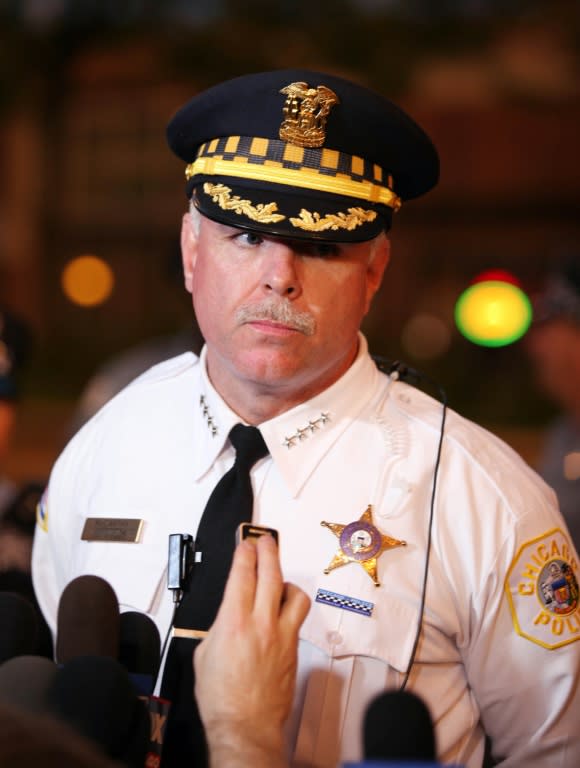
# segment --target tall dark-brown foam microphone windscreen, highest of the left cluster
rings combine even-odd
[[[119,603],[99,576],[79,576],[64,589],[58,605],[56,660],[110,656],[119,652]]]

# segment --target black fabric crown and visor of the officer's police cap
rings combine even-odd
[[[399,107],[381,95],[356,83],[322,72],[283,69],[245,75],[210,88],[187,102],[167,127],[169,146],[186,164],[196,158],[200,145],[224,136],[252,136],[279,140],[284,120],[285,96],[280,91],[294,82],[309,87],[330,88],[338,97],[326,119],[324,149],[362,157],[393,177],[393,191],[401,200],[410,200],[432,189],[439,177],[437,152],[424,131]],[[305,232],[291,228],[288,222],[256,225],[231,210],[223,210],[203,192],[203,184],[223,183],[232,196],[250,199],[253,205],[275,202],[288,218],[297,216],[302,207],[327,213],[345,213],[349,208],[375,210],[377,218],[353,231]],[[293,236],[330,240],[366,240],[381,229],[388,229],[392,209],[352,196],[274,184],[264,180],[246,180],[228,176],[195,176],[186,185],[191,196],[196,189],[196,205],[210,218],[234,226],[288,233]],[[250,196],[248,190],[253,192]]]

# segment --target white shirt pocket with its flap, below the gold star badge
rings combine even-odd
[[[314,602],[302,627],[298,704],[288,728],[293,765],[331,768],[360,760],[369,701],[398,688],[410,664],[418,606],[384,587],[365,592],[365,585],[358,586],[348,594],[374,602],[370,616]]]

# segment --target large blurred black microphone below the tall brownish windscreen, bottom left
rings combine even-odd
[[[58,671],[48,691],[51,714],[110,758],[143,768],[150,717],[127,670],[108,656],[76,656]]]

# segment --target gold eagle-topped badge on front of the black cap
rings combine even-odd
[[[290,83],[280,90],[286,95],[280,138],[299,147],[321,147],[326,138],[326,118],[339,98],[330,88]]]

